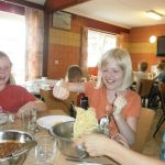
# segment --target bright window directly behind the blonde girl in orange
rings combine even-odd
[[[117,47],[117,35],[88,30],[88,67],[97,66],[100,56]]]

